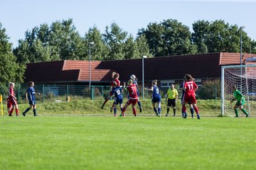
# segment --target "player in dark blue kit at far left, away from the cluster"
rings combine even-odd
[[[23,116],[26,116],[26,113],[29,110],[31,110],[32,107],[33,107],[33,115],[37,116],[37,114],[36,114],[36,98],[35,98],[35,94],[40,95],[40,93],[36,93],[33,86],[34,86],[33,81],[29,81],[28,82],[28,89],[26,91],[26,101],[28,101],[29,107],[26,109],[26,111],[24,111],[22,113]]]

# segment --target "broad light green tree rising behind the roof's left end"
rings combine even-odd
[[[84,57],[83,48],[82,38],[72,19],[68,19],[27,30],[24,40],[18,40],[14,54],[21,63],[79,60]]]

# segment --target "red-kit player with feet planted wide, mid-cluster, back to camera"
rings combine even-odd
[[[136,111],[135,105],[138,102],[139,98],[137,95],[137,86],[136,86],[136,84],[132,83],[131,79],[129,79],[129,81],[128,81],[127,91],[129,92],[129,100],[125,104],[120,116],[125,116],[124,112],[127,110],[127,107],[130,104],[132,104],[132,111],[133,111],[134,116],[137,116],[137,111]]]

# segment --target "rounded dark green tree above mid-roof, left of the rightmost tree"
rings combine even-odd
[[[149,23],[146,29],[139,30],[149,43],[150,52],[158,56],[195,54],[196,47],[191,43],[188,26],[168,19],[161,23]]]

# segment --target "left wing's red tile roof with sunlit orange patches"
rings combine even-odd
[[[91,62],[91,81],[109,82],[110,69],[97,69],[101,62]],[[65,60],[58,62],[28,63],[24,81],[53,83],[66,81],[89,81],[89,62]]]

